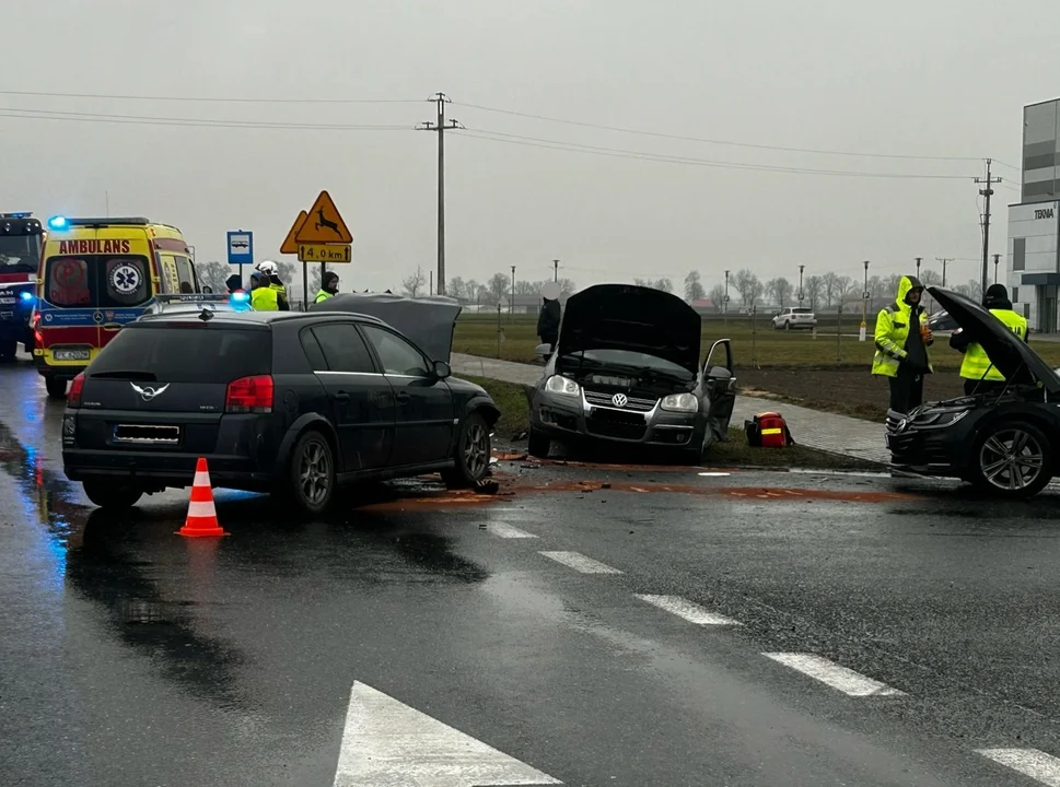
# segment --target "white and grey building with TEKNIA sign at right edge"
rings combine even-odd
[[[1034,331],[1058,332],[1060,98],[1023,108],[1022,201],[1009,205],[1009,294]]]

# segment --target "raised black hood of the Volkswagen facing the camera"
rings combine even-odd
[[[557,354],[631,350],[696,375],[701,330],[699,313],[676,295],[632,284],[597,284],[568,298]]]

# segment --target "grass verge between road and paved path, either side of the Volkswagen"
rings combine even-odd
[[[513,383],[487,379],[485,377],[466,377],[482,386],[493,397],[501,411],[500,421],[493,427],[496,437],[508,443],[513,435],[525,432],[529,427],[529,407],[521,386]],[[867,470],[878,469],[872,462],[848,459],[847,457],[825,454],[804,446],[788,448],[752,448],[747,445],[744,431],[738,427],[729,430],[729,442],[711,446],[703,457],[710,465],[723,467],[765,467],[765,468],[814,468],[828,470]]]

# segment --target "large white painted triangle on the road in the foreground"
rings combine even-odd
[[[335,787],[561,782],[363,683],[354,683]]]

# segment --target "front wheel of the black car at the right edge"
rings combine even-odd
[[[1021,421],[997,424],[976,443],[977,485],[1005,497],[1033,497],[1052,478],[1052,446],[1040,430]]]

